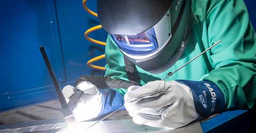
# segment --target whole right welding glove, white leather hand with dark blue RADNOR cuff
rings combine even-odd
[[[129,87],[124,99],[135,123],[163,128],[186,126],[225,107],[221,90],[210,81],[151,81]]]

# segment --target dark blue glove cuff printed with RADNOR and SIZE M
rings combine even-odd
[[[226,106],[225,98],[221,90],[210,81],[177,80],[187,85],[193,94],[196,112],[201,117],[208,117],[221,112]]]

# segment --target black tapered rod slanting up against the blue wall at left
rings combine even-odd
[[[46,53],[45,53],[44,47],[43,47],[43,46],[40,46],[39,49],[40,49],[41,54],[42,54],[42,56],[43,56],[43,58],[44,58],[44,62],[45,62],[45,64],[46,64],[46,66],[47,66],[47,70],[48,70],[48,72],[49,72],[49,74],[50,74],[50,76],[51,76],[53,85],[54,85],[54,87],[55,87],[56,93],[57,93],[57,95],[58,95],[58,98],[59,98],[59,101],[60,101],[60,104],[61,104],[61,108],[62,108],[63,111],[65,111],[65,112],[63,112],[64,115],[73,114],[72,112],[70,112],[69,109],[67,110],[68,104],[67,104],[67,102],[66,102],[65,97],[63,96],[63,94],[62,94],[62,92],[61,92],[60,85],[58,84],[58,81],[57,81],[57,79],[56,79],[56,77],[55,77],[55,74],[54,74],[54,72],[53,72],[53,70],[52,70],[51,63],[50,63],[50,61],[49,61],[49,59],[48,59],[48,57],[47,57],[47,55],[46,55]],[[68,112],[67,112],[67,111],[68,111]],[[65,116],[65,117],[66,117],[66,116]]]

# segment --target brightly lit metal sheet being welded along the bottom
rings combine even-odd
[[[54,124],[40,124],[37,126],[27,126],[22,128],[3,129],[2,132],[203,132],[199,122],[193,122],[185,127],[179,129],[166,129],[166,128],[154,128],[145,125],[135,124],[132,119],[127,120],[110,120],[101,121],[94,127],[85,130],[91,126],[93,122],[80,122],[72,126],[67,126],[66,123],[54,123]]]

